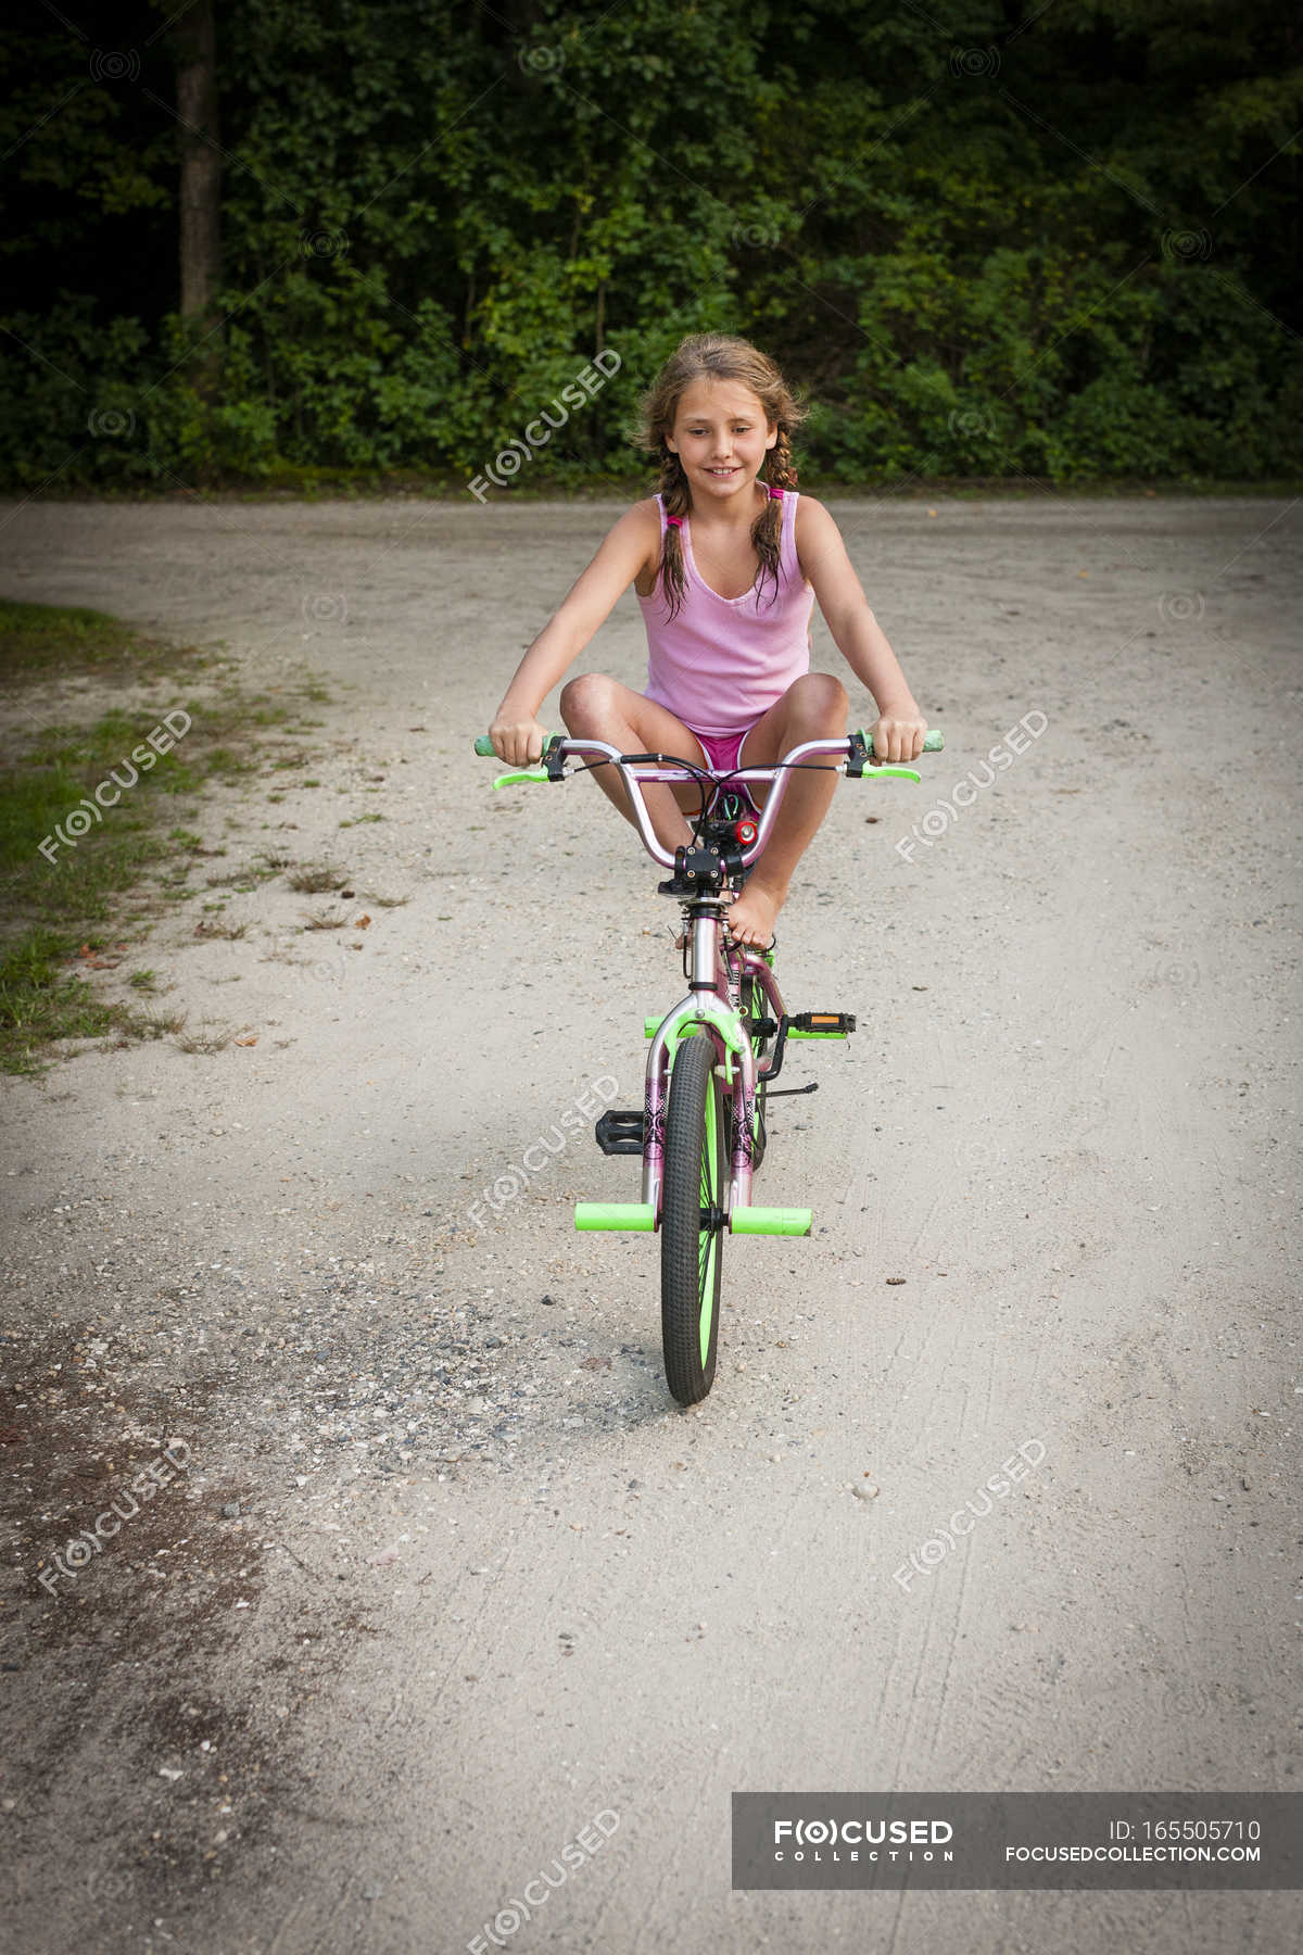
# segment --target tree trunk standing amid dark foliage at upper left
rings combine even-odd
[[[176,113],[182,152],[182,319],[211,330],[221,280],[221,151],[217,149],[217,59],[213,0],[193,6],[174,27]],[[221,334],[207,342],[197,381],[213,385]]]

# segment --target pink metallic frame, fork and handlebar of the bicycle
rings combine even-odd
[[[783,794],[787,792],[787,780],[791,768],[797,762],[813,760],[817,757],[838,755],[840,764],[834,772],[846,772],[846,751],[848,737],[842,733],[838,739],[815,739],[805,741],[801,747],[793,747],[791,753],[783,755],[781,766],[746,766],[725,772],[713,772],[711,768],[701,768],[697,772],[686,766],[674,766],[670,760],[656,762],[637,762],[623,760],[617,747],[609,747],[606,741],[598,739],[567,739],[561,747],[563,755],[574,757],[594,757],[609,760],[611,766],[619,770],[629,792],[629,805],[637,821],[643,847],[654,862],[664,868],[674,868],[674,852],[664,847],[651,825],[651,815],[647,811],[647,802],[643,800],[643,788],[649,784],[674,786],[678,782],[701,784],[701,776],[709,776],[713,782],[768,782],[770,796],[760,811],[760,825],[756,831],[756,841],[742,850],[742,866],[750,868],[756,856],[768,843],[778,811],[783,804]],[[742,944],[733,944],[725,938],[723,931],[723,911],[729,897],[694,897],[695,903],[711,905],[713,913],[697,913],[692,919],[692,942],[690,942],[690,989],[678,1005],[674,1005],[666,1017],[660,1021],[656,1034],[651,1042],[651,1052],[647,1054],[647,1087],[643,1105],[643,1202],[651,1206],[656,1216],[656,1226],[660,1226],[660,1187],[664,1177],[664,1112],[670,1091],[670,1054],[678,1044],[680,1036],[688,1028],[701,1026],[701,1030],[713,1040],[717,1065],[723,1067],[725,1093],[733,1099],[733,1159],[729,1169],[729,1216],[738,1208],[750,1206],[750,1183],[752,1183],[752,1155],[754,1155],[754,1132],[756,1132],[756,1089],[762,1079],[768,1077],[772,1067],[772,1058],[756,1067],[756,1054],[742,1024],[740,1005],[742,1005],[742,985],[754,979],[764,991],[770,1015],[778,1022],[783,1017],[783,999],[774,979],[774,972],[764,954],[754,952]]]

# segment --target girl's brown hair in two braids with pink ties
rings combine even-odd
[[[651,450],[660,461],[658,489],[666,516],[686,516],[690,508],[688,477],[680,457],[666,446],[666,434],[672,430],[678,403],[694,379],[735,379],[750,387],[764,409],[766,426],[778,426],[778,440],[764,459],[760,481],[774,489],[795,489],[797,465],[791,456],[791,432],[805,420],[805,407],[797,403],[774,362],[748,340],[733,338],[729,332],[694,332],[680,340],[678,352],[670,354],[651,393],[643,397],[637,428],[639,446]],[[760,557],[756,583],[764,588],[764,579],[774,579],[770,602],[778,596],[781,530],[783,504],[770,499],[750,532]],[[676,524],[666,524],[656,579],[670,606],[670,616],[674,616],[688,586],[684,540]]]

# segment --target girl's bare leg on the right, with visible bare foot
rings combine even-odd
[[[846,733],[846,686],[830,673],[807,673],[787,686],[746,735],[738,766],[772,766],[807,739],[834,739]],[[815,829],[828,813],[838,776],[793,770],[774,833],[764,845],[746,888],[729,911],[729,929],[742,944],[764,950],[774,936],[774,919],[787,897],[791,872],[805,854]],[[764,792],[764,790],[762,790]],[[760,796],[756,796],[760,800]]]

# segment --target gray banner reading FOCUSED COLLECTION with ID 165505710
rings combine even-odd
[[[735,1887],[1303,1887],[1303,1793],[735,1793]]]

